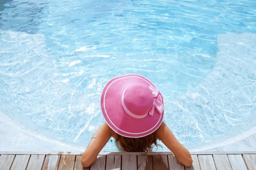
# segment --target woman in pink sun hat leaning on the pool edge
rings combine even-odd
[[[192,165],[189,151],[163,122],[162,94],[148,79],[137,74],[115,77],[105,85],[100,102],[106,122],[94,133],[83,153],[84,168],[94,163],[111,136],[117,147],[126,152],[152,151],[157,140],[161,140],[181,164]]]

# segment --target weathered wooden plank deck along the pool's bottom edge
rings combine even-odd
[[[192,153],[193,167],[179,164],[172,153],[100,153],[87,169],[82,153],[0,152],[0,170],[256,170],[256,152]]]

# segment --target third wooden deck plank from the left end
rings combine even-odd
[[[26,170],[41,170],[45,155],[32,154]]]

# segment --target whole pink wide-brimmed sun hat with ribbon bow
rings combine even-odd
[[[111,79],[103,88],[100,104],[107,124],[121,136],[147,136],[155,132],[163,120],[162,94],[138,74]]]

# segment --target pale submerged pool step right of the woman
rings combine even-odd
[[[256,122],[255,96],[256,34],[220,34],[213,70],[194,89],[168,103],[169,119],[179,119],[176,128],[184,139],[208,140],[204,147],[209,149],[219,138],[223,141],[256,126],[251,123]],[[194,136],[186,133],[188,126]]]

